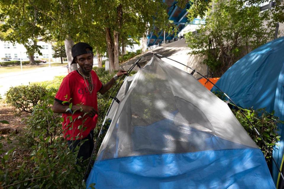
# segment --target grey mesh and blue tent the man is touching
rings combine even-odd
[[[275,188],[225,102],[153,56],[124,80],[87,188]]]

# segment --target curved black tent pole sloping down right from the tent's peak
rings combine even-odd
[[[171,59],[171,58],[168,58],[168,57],[165,57],[165,56],[163,56],[163,55],[159,55],[159,54],[156,54],[156,53],[154,53],[154,54],[155,54],[158,58],[160,58],[159,56],[161,56],[161,57],[163,57],[163,58],[167,58],[167,59],[170,59],[170,60],[172,60],[172,61],[175,61],[175,60],[173,60],[173,59]],[[160,58],[160,59],[161,59],[161,58]],[[213,84],[218,90],[220,90],[220,91],[228,98],[228,100],[231,101],[231,102],[233,103],[233,105],[235,105],[235,106],[238,108],[238,110],[240,110],[240,108],[235,104],[235,102],[234,102],[225,92],[223,92],[219,87],[217,87],[213,82],[211,82],[207,77],[205,77],[204,75],[200,74],[200,73],[199,73],[198,71],[196,71],[195,69],[193,69],[193,68],[191,68],[191,67],[189,67],[189,66],[187,66],[187,65],[185,65],[185,64],[183,64],[183,63],[180,63],[180,62],[178,62],[178,61],[175,61],[175,62],[177,62],[177,63],[179,63],[179,64],[182,64],[183,66],[185,66],[185,67],[191,69],[191,70],[192,70],[191,75],[193,75],[194,72],[196,72],[197,74],[201,75],[201,76],[202,76],[203,78],[205,78],[208,82],[210,82],[211,84]],[[265,148],[267,149],[267,151],[269,152],[269,154],[270,154],[270,156],[271,156],[273,162],[275,163],[275,165],[276,165],[276,167],[277,167],[277,169],[278,169],[278,171],[279,171],[279,173],[280,173],[280,175],[281,175],[281,178],[282,178],[283,181],[284,181],[283,174],[282,174],[280,168],[278,167],[278,165],[277,165],[275,159],[272,157],[272,153],[271,153],[270,150],[268,149],[268,146],[266,145],[266,143],[265,143],[265,141],[263,140],[262,136],[259,134],[259,132],[258,132],[257,129],[254,127],[254,125],[251,123],[251,121],[246,117],[246,115],[245,115],[242,111],[240,111],[240,112],[241,112],[241,114],[246,118],[246,120],[248,120],[249,124],[254,128],[254,131],[258,134],[259,138],[262,140],[262,142],[263,142]]]

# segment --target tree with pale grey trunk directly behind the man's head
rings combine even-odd
[[[71,64],[71,47],[75,42],[86,42],[93,46],[93,52],[104,53],[106,49],[103,27],[96,18],[100,10],[96,1],[90,0],[51,0],[36,1],[36,7],[48,15],[48,24],[43,27],[46,35],[54,40],[64,41],[67,61],[70,71],[76,70],[77,65]]]

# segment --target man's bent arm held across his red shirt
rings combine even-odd
[[[87,105],[72,105],[72,111],[80,111],[80,107],[82,107],[83,113],[88,113],[91,117],[94,115],[98,114],[98,112],[95,110],[95,108]],[[52,111],[54,113],[69,113],[66,110],[69,108],[68,105],[63,105],[62,103],[54,100],[53,106],[52,106]],[[99,114],[98,114],[99,115]]]

